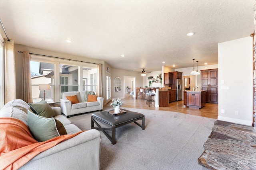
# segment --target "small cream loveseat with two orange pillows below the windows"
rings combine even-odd
[[[96,100],[93,102],[88,102],[88,95],[92,94],[94,94],[93,91],[64,92],[62,94],[62,99],[60,99],[61,112],[66,115],[66,117],[70,117],[71,115],[76,115],[79,113],[98,110],[102,111],[104,98],[95,96]],[[72,101],[68,100],[67,98],[69,96],[76,96],[78,102],[72,104]]]

